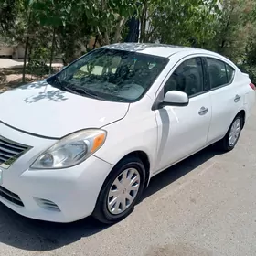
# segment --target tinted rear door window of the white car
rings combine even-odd
[[[234,69],[219,59],[208,58],[208,71],[211,88],[229,84],[234,76]]]

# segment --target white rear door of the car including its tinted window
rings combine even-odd
[[[235,80],[236,71],[221,59],[206,58],[210,83],[212,119],[208,144],[221,139],[243,107],[242,84]]]

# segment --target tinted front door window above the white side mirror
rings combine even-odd
[[[165,83],[167,91],[184,91],[188,96],[203,91],[203,68],[200,58],[187,59],[179,65]]]

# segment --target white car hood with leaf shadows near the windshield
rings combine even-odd
[[[120,120],[128,108],[129,103],[82,97],[40,81],[0,95],[0,122],[23,132],[60,138]]]

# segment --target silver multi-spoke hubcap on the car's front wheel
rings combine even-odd
[[[108,195],[108,210],[112,214],[123,213],[131,206],[140,188],[140,174],[134,168],[123,171],[112,183]]]

